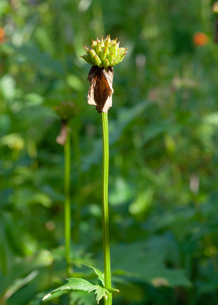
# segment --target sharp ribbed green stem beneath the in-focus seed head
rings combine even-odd
[[[102,112],[102,134],[103,134],[103,164],[102,164],[102,231],[104,248],[104,279],[105,288],[111,288],[111,262],[109,246],[109,222],[108,222],[108,167],[109,167],[109,145],[108,145],[108,123],[107,113]],[[112,304],[112,293],[104,298],[105,305]]]

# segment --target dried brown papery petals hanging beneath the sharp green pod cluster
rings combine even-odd
[[[107,113],[112,107],[113,67],[108,67],[107,72],[104,67],[92,66],[89,71],[88,80],[90,82],[88,93],[88,104],[96,106],[98,113]]]

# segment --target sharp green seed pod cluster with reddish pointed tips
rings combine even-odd
[[[80,57],[92,66],[104,67],[107,72],[108,67],[113,67],[120,63],[127,53],[125,52],[127,48],[119,48],[119,43],[117,43],[117,38],[111,40],[110,35],[105,39],[102,36],[101,40],[98,38],[94,41],[92,40],[92,48],[85,46],[87,54]]]

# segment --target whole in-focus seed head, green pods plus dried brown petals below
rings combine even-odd
[[[123,60],[127,52],[125,48],[119,48],[117,38],[111,40],[110,35],[106,39],[101,37],[92,40],[92,48],[84,47],[85,55],[80,56],[87,63],[92,65],[89,71],[88,80],[90,82],[88,93],[88,104],[96,106],[98,113],[107,113],[112,106],[113,66]]]

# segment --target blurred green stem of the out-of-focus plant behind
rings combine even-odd
[[[67,262],[67,274],[70,275],[70,247],[71,247],[71,202],[70,202],[70,178],[71,177],[71,142],[70,131],[67,126],[67,139],[64,144],[64,233],[65,251]]]

